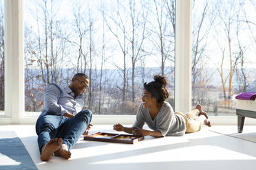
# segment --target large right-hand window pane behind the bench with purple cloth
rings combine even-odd
[[[193,1],[192,104],[235,115],[235,95],[256,91],[256,1]]]

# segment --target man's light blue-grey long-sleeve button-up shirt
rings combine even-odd
[[[55,114],[63,116],[66,112],[76,115],[83,108],[83,95],[78,95],[74,99],[74,93],[69,88],[51,83],[45,90],[43,114]]]

